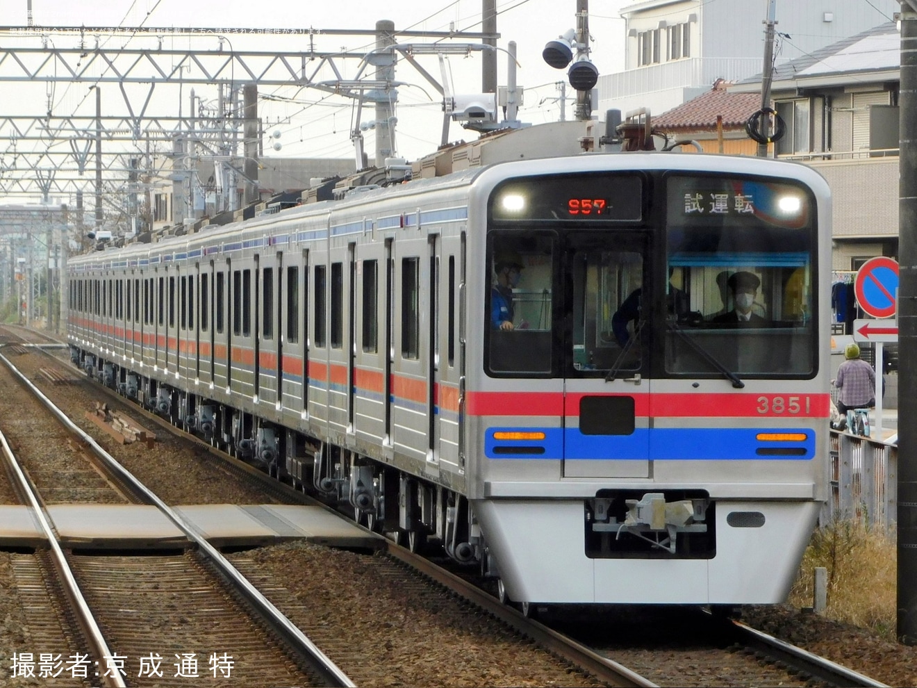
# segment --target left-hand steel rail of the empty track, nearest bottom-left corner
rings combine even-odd
[[[0,358],[4,357],[0,356]],[[4,358],[4,361],[6,361],[6,358]],[[17,483],[19,483],[20,492],[25,495],[28,500],[35,518],[39,522],[39,527],[48,540],[48,545],[51,550],[51,560],[54,563],[54,568],[58,572],[58,576],[61,578],[61,587],[63,588],[64,594],[67,596],[73,611],[76,613],[77,622],[83,630],[83,636],[86,638],[86,641],[95,654],[98,666],[100,668],[106,666],[105,659],[111,658],[113,655],[108,648],[108,643],[105,641],[102,629],[99,628],[98,623],[95,621],[93,611],[86,603],[80,586],[76,583],[76,578],[73,575],[70,564],[67,563],[63,549],[61,549],[57,533],[54,532],[51,527],[49,518],[45,514],[44,509],[39,505],[38,497],[32,489],[32,485],[29,483],[25,473],[22,472],[16,460],[16,456],[13,454],[13,449],[10,449],[9,443],[6,441],[6,436],[2,432],[0,432],[0,447],[3,449],[3,454],[6,458],[6,463],[10,472],[12,472],[16,477]],[[112,673],[105,671],[105,674],[99,678],[106,686],[110,686],[110,688],[126,688],[127,686],[127,683],[121,679],[120,671],[113,671]]]

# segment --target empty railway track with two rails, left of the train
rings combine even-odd
[[[53,416],[99,461],[94,469],[106,472],[104,482],[119,498],[126,494],[114,485],[125,484],[129,495],[160,507],[180,527],[194,549],[172,557],[112,557],[65,552],[45,516],[45,504],[28,479],[16,455],[0,437],[8,472],[17,476],[17,491],[24,495],[50,547],[53,571],[41,571],[45,581],[62,582],[69,602],[66,613],[76,620],[83,643],[72,642],[64,656],[85,656],[99,668],[105,685],[127,685],[132,677],[162,678],[161,667],[174,666],[170,682],[198,685],[208,668],[214,679],[258,685],[352,685],[347,676],[267,600],[238,574],[231,564],[170,507],[134,480],[128,472],[60,410],[50,404],[15,366],[0,355],[10,371],[39,398]],[[50,424],[38,410],[26,413]],[[31,445],[29,445],[31,446]],[[87,452],[89,453],[89,452]],[[33,462],[34,465],[34,462]],[[83,477],[84,471],[73,472]],[[78,498],[88,489],[76,489]],[[71,495],[73,496],[73,495]],[[38,559],[39,565],[41,559]],[[210,571],[204,571],[209,569]],[[215,620],[218,623],[215,625]],[[67,630],[64,630],[67,634]],[[75,635],[75,634],[74,634]],[[269,649],[269,651],[265,651]],[[29,649],[22,652],[34,655]],[[89,659],[92,658],[92,659]],[[177,663],[172,663],[173,658]],[[199,668],[199,664],[201,667]],[[146,670],[146,674],[144,671]],[[150,673],[152,672],[152,673]],[[92,679],[92,673],[89,678]]]

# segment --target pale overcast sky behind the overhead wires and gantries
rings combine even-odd
[[[624,20],[619,10],[629,4],[628,0],[591,0],[590,33],[591,60],[600,73],[614,72],[623,68],[624,63]],[[32,0],[32,21],[35,26],[101,26],[101,27],[201,27],[201,28],[375,28],[376,21],[390,19],[395,29],[448,30],[451,26],[458,30],[481,30],[481,0],[391,0],[388,3],[372,3],[364,0],[272,0],[269,3],[237,2],[236,0]],[[27,24],[27,0],[4,0],[0,3],[0,25],[25,26]],[[550,39],[555,39],[568,28],[576,27],[575,0],[497,0],[497,30],[502,35],[498,42],[505,49],[510,40],[516,41],[517,55],[520,63],[517,82],[525,86],[525,104],[520,112],[523,121],[538,124],[554,121],[559,118],[559,105],[552,100],[559,95],[556,82],[566,81],[566,70],[558,71],[548,67],[541,58],[541,50]],[[278,39],[250,39],[243,42],[230,34],[232,45],[236,50],[271,50],[277,46]],[[13,47],[38,47],[37,37],[14,37],[7,40]],[[72,47],[76,38],[72,36],[53,36],[54,45],[58,48]],[[114,42],[105,44],[106,50],[116,49],[126,43],[126,36],[111,39]],[[127,42],[131,48],[141,48],[143,41],[135,37]],[[188,49],[187,39],[170,39],[164,47]],[[249,39],[246,39],[249,40]],[[285,50],[305,50],[306,39],[298,42],[283,43]],[[407,39],[402,39],[401,42]],[[420,41],[422,39],[411,39]],[[315,49],[333,51],[362,50],[371,43],[371,39],[343,36],[319,36],[315,39]],[[193,48],[197,50],[199,44]],[[371,46],[370,46],[371,47]],[[419,57],[426,71],[440,80],[439,63],[435,56]],[[498,82],[506,83],[505,52],[498,53]],[[347,61],[346,69],[352,76],[359,69],[357,61]],[[448,60],[454,88],[458,93],[481,91],[481,54],[470,57],[451,57]],[[369,72],[372,73],[371,70]],[[436,150],[442,131],[442,111],[439,96],[417,72],[406,62],[399,64],[396,79],[415,85],[399,88],[399,105],[397,116],[399,125],[396,134],[398,152],[403,157],[413,160],[428,152]],[[58,86],[50,93],[47,86],[40,86],[33,92],[25,87],[16,86],[16,97],[5,83],[7,90],[3,98],[8,110],[9,104],[16,103],[17,113],[39,116],[48,109],[55,115],[66,116],[74,112],[90,115],[94,112],[94,101],[87,97],[88,84],[74,84],[72,87]],[[208,93],[205,87],[195,87],[196,94],[206,101],[215,100],[216,91]],[[569,90],[569,94],[573,94]],[[28,97],[27,97],[28,93]],[[178,115],[180,101],[183,113],[187,114],[187,90],[180,96],[177,87],[168,89],[157,87],[156,98],[158,110],[162,106]],[[331,97],[316,90],[277,89],[265,87],[260,94],[277,94],[292,97],[295,103],[277,104],[261,101],[260,115],[268,121],[266,129],[280,130],[282,150],[268,151],[266,154],[295,157],[339,157],[352,156],[352,144],[349,131],[353,127],[354,105],[349,99]],[[123,106],[116,87],[105,87],[106,114],[122,114]],[[133,98],[134,96],[132,96]],[[325,98],[323,100],[323,98]],[[322,101],[320,104],[317,101]],[[142,100],[135,105],[140,109]],[[24,111],[23,108],[28,108]],[[116,108],[113,111],[109,108]],[[371,113],[371,108],[370,108]],[[572,105],[568,103],[567,117],[572,118]],[[364,121],[368,118],[364,111]],[[450,140],[476,139],[477,134],[465,131],[458,124],[452,124],[449,131]],[[270,142],[269,142],[270,144]],[[371,132],[367,134],[366,148],[370,159],[374,150]]]

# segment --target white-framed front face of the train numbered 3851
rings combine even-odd
[[[637,153],[475,186],[469,491],[503,591],[783,601],[828,489],[823,178]]]

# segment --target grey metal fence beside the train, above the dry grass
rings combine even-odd
[[[831,431],[831,497],[822,524],[855,519],[891,534],[898,516],[898,447]]]

